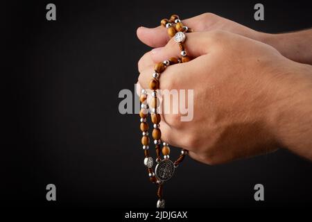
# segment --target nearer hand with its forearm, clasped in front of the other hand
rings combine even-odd
[[[149,34],[142,36],[139,30],[138,35],[153,46],[167,41],[148,40]],[[164,141],[186,148],[194,160],[206,164],[277,148],[312,160],[311,65],[229,31],[187,33],[185,46],[194,59],[168,67],[160,76],[160,89],[194,89],[194,117],[184,122],[181,114],[163,114]],[[141,87],[148,88],[155,62],[179,53],[173,40],[146,53],[139,61]]]

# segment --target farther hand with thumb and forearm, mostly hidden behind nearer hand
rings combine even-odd
[[[190,19],[184,19],[182,23],[196,32],[221,30],[243,35],[270,44],[286,58],[312,65],[312,30],[282,34],[261,33],[209,12]],[[162,26],[156,28],[139,27],[137,36],[141,42],[153,48],[162,47],[169,40]]]

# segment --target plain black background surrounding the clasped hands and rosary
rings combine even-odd
[[[263,3],[265,21],[254,20]],[[2,4],[1,203],[18,207],[155,207],[139,117],[119,114],[150,48],[139,26],[214,12],[268,33],[312,26],[311,1],[21,1]],[[55,3],[57,20],[46,20]],[[172,151],[173,157],[179,153]],[[312,203],[312,164],[288,151],[220,166],[187,158],[167,182],[167,207],[300,207]],[[57,201],[46,200],[46,185]],[[253,187],[265,187],[254,201]]]

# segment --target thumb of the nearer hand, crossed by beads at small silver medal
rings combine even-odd
[[[207,54],[211,44],[214,43],[211,40],[211,34],[209,32],[186,33],[185,35],[185,51],[187,51],[187,56],[191,58]],[[150,58],[156,63],[171,57],[181,57],[180,53],[179,44],[171,39],[166,46],[153,50],[152,53],[150,53]]]

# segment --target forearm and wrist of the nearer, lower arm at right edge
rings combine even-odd
[[[312,66],[286,68],[272,123],[280,146],[312,160]]]

